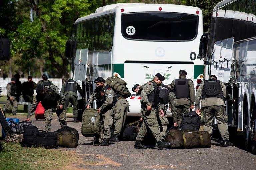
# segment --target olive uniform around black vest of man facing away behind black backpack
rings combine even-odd
[[[180,79],[185,79],[186,76],[180,76]],[[175,79],[176,80],[176,79]],[[175,80],[172,81],[171,86],[175,87]],[[194,83],[192,80],[188,81],[188,85],[189,85],[189,93],[190,93],[190,97],[189,98],[177,98],[177,124],[180,127],[180,123],[184,117],[184,114],[189,112],[189,108],[190,106],[194,106],[194,102],[195,102],[195,87],[194,87]],[[176,96],[177,97],[177,96]]]

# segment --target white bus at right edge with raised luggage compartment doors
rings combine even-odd
[[[256,0],[224,0],[213,9],[205,78],[226,83],[235,104],[227,103],[228,125],[245,132],[245,145],[256,154]]]

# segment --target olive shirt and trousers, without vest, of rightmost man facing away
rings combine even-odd
[[[211,80],[211,79],[210,79]],[[224,98],[228,97],[229,100],[233,101],[233,98],[227,93],[226,86],[222,81],[220,81],[220,85],[222,88],[222,93]],[[202,98],[204,82],[199,86],[196,92],[196,99],[195,99],[195,106],[196,109],[200,109],[200,100]],[[208,131],[212,134],[212,123],[213,123],[213,116],[218,121],[218,129],[220,131],[221,137],[224,140],[229,139],[229,132],[228,132],[228,117],[226,115],[225,110],[225,103],[224,100],[218,97],[208,97],[201,101],[201,107],[203,111],[203,120],[204,130]]]

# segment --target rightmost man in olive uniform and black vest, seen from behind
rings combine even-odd
[[[223,139],[224,146],[231,146],[233,143],[229,142],[228,132],[228,117],[226,115],[224,100],[226,97],[235,102],[233,98],[227,93],[226,86],[220,80],[217,80],[215,75],[210,75],[209,80],[202,82],[196,92],[195,106],[196,112],[200,114],[200,100],[203,110],[204,130],[212,134],[213,116],[218,121],[218,128]]]

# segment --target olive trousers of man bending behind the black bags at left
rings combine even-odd
[[[56,112],[57,116],[59,117],[61,128],[64,128],[67,126],[66,111],[64,109],[59,109],[59,110],[47,109],[44,112],[44,117],[45,117],[44,129],[46,132],[51,131],[51,121],[52,121],[53,112]]]

